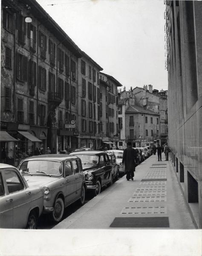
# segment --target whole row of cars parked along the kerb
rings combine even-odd
[[[136,150],[140,163],[147,152]],[[123,150],[77,150],[28,157],[18,168],[0,164],[0,228],[35,229],[42,213],[58,223],[65,207],[125,174],[122,158]]]

